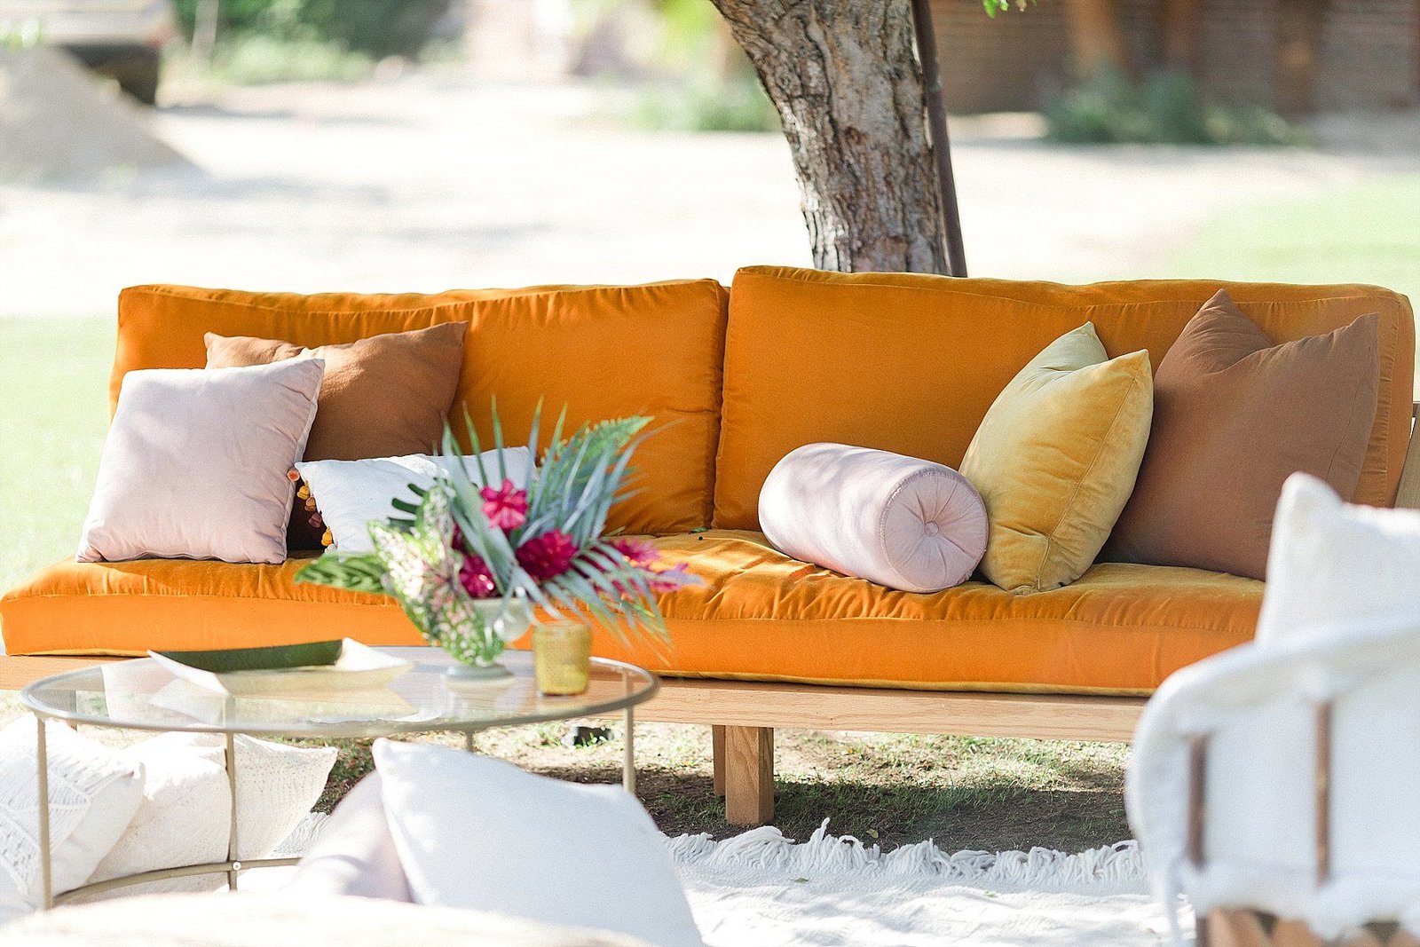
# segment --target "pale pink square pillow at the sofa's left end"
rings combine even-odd
[[[80,562],[285,561],[325,362],[143,369],[124,376]]]

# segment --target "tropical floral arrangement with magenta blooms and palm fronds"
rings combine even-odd
[[[496,463],[484,461],[469,423],[473,454],[427,490],[410,486],[417,504],[393,501],[409,515],[372,521],[373,552],[331,549],[297,581],[392,595],[426,640],[476,667],[493,664],[527,630],[532,606],[618,636],[629,629],[663,639],[656,596],[697,579],[683,564],[667,566],[645,540],[605,535],[612,504],[629,496],[630,457],[648,420],[584,425],[564,439],[559,417],[527,484],[507,476],[496,413]],[[450,430],[443,450],[460,453]],[[537,416],[528,453],[538,457]]]

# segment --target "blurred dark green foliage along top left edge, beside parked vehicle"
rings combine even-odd
[[[175,0],[192,35],[202,0]],[[372,58],[413,58],[435,34],[452,0],[220,0],[223,41],[261,35],[288,43],[335,43]]]

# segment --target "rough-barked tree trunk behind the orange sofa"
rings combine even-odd
[[[949,273],[910,0],[713,0],[794,153],[814,266]]]

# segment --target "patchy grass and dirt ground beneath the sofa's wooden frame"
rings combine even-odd
[[[476,748],[559,779],[621,779],[619,727],[589,747],[564,745],[565,734],[561,726],[496,731]],[[362,768],[361,747],[341,750],[332,795]],[[778,731],[774,750],[774,825],[794,839],[824,819],[835,835],[869,845],[930,838],[949,852],[1079,852],[1132,838],[1120,745]],[[724,801],[714,795],[709,727],[640,724],[636,761],[638,795],[667,835],[743,831],[724,822]]]

